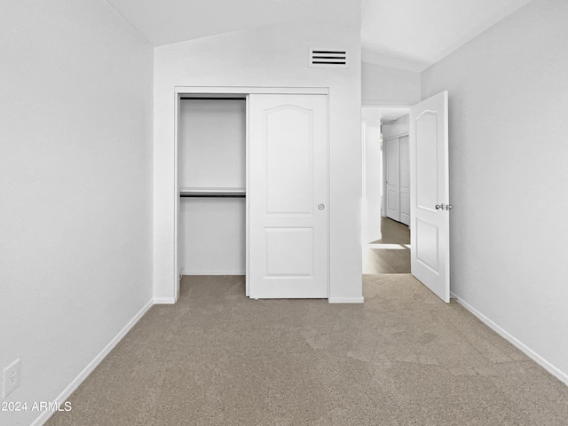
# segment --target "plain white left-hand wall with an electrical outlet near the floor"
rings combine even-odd
[[[31,407],[152,297],[153,50],[102,0],[4,1],[0,40],[0,369]]]

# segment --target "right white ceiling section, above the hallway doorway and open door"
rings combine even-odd
[[[421,72],[530,0],[362,0],[363,60]]]

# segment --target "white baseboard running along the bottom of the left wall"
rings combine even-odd
[[[87,378],[87,376],[92,373],[92,371],[100,364],[100,361],[105,359],[106,355],[108,355],[108,353],[114,349],[114,346],[116,346],[116,344],[118,344],[122,340],[122,337],[124,337],[130,331],[130,328],[136,325],[138,320],[144,316],[144,314],[148,311],[148,309],[152,307],[153,304],[154,300],[150,300],[147,304],[145,304],[144,307],[140,311],[138,311],[138,313],[134,315],[134,317],[130,319],[130,321],[128,321],[128,323],[124,327],[122,327],[122,330],[119,331],[118,334],[114,336],[113,340],[111,340],[105,346],[105,348],[99,352],[99,355],[97,355],[95,359],[93,359],[87,365],[87,367],[83,368],[83,371],[79,373],[79,375],[77,375],[71,383],[69,383],[67,388],[65,388],[59,394],[59,396],[54,399],[53,402],[59,402],[59,404],[63,406],[63,404],[65,404],[65,401],[67,401],[67,398],[69,398],[71,394],[79,387],[79,385],[83,383],[83,381]],[[40,414],[36,418],[36,420],[31,423],[30,426],[43,425],[45,422],[49,420],[49,418],[51,417],[51,415],[53,415],[53,413],[54,412],[51,410],[43,411],[43,413]]]

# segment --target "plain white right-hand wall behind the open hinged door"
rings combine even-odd
[[[449,91],[452,291],[568,383],[568,3],[533,0],[422,74]]]

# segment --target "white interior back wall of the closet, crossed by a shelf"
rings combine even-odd
[[[244,97],[180,99],[180,274],[245,274],[246,119]]]

